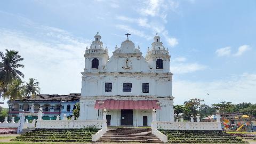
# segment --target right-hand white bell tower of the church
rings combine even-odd
[[[160,39],[161,37],[156,34],[151,49],[148,47],[146,60],[155,73],[169,73],[171,56]]]

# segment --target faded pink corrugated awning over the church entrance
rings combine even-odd
[[[100,105],[99,102],[104,102]],[[161,109],[157,100],[96,100],[94,109]]]

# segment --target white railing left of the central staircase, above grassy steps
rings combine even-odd
[[[82,129],[85,127],[102,128],[104,120],[37,120],[36,128],[39,129]]]

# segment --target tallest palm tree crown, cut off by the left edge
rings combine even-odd
[[[0,94],[2,95],[7,91],[7,86],[13,83],[14,79],[20,79],[24,77],[18,68],[23,68],[19,62],[23,60],[18,51],[5,50],[5,55],[0,52]]]

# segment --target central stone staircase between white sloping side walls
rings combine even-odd
[[[107,132],[97,142],[143,142],[163,143],[150,128],[108,127]]]

